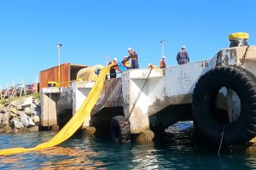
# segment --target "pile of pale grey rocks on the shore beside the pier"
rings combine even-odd
[[[0,133],[28,133],[39,130],[40,99],[32,96],[0,105]]]

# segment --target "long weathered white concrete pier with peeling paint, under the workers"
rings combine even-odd
[[[165,115],[166,113],[160,113],[160,111],[165,110],[170,105],[191,105],[193,90],[199,78],[216,65],[240,65],[246,50],[247,47],[226,48],[212,59],[187,65],[176,65],[152,71],[150,69],[123,71],[120,78],[105,82],[101,97],[98,99],[90,116],[96,116],[104,108],[121,106],[123,107],[124,116],[131,122],[131,133],[142,133],[148,130],[148,116],[155,116],[155,120],[160,120],[160,122],[164,123],[164,126],[172,125],[172,123],[179,120],[191,120],[191,109],[189,107],[187,108],[189,113],[186,114],[184,111],[181,116],[177,116],[173,112]],[[243,66],[256,75],[256,70],[254,69],[256,63],[254,62],[256,62],[256,47],[251,46],[247,50]],[[94,83],[93,81],[73,82],[72,90],[67,90],[66,92],[65,90],[62,90],[62,92],[60,90],[44,92],[44,95],[48,97],[48,99],[45,98],[44,100],[44,105],[46,105],[44,106],[44,111],[48,111],[51,115],[56,115],[57,113],[55,112],[61,110],[57,105],[65,104],[66,108],[62,108],[71,107],[74,114],[90,93]],[[52,94],[50,99],[49,94]],[[67,96],[72,99],[67,99]],[[230,119],[232,119],[237,116],[240,108],[230,107],[230,105],[239,101],[230,92],[224,97],[227,98],[225,103],[221,103],[218,106],[228,111]],[[47,102],[49,102],[49,105],[47,105]],[[68,104],[72,104],[72,106]],[[47,109],[50,107],[55,108]],[[44,113],[46,114],[44,115],[44,126],[56,123],[55,117],[53,117],[53,122],[47,122],[49,113]],[[102,114],[102,116],[104,115]],[[91,117],[84,122],[83,127],[91,126],[90,119]]]

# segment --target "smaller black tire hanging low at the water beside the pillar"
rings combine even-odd
[[[110,133],[114,142],[128,143],[131,142],[130,123],[125,116],[114,116],[110,123]]]

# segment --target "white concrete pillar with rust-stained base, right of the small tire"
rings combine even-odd
[[[131,123],[131,133],[143,133],[149,129],[148,81],[155,77],[163,77],[162,70],[134,69],[122,73],[124,114]]]

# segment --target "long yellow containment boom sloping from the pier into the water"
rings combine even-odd
[[[99,98],[102,92],[104,81],[106,75],[108,75],[110,67],[111,65],[108,65],[100,71],[100,74],[97,77],[95,85],[93,86],[93,88],[91,88],[90,94],[88,94],[88,97],[84,100],[84,103],[79,108],[79,111],[76,112],[72,119],[69,122],[67,122],[65,127],[63,127],[61,131],[57,133],[52,139],[43,144],[38,144],[34,148],[10,148],[0,150],[0,156],[18,154],[32,150],[43,150],[55,146],[57,144],[61,144],[65,140],[69,139],[73,135],[73,133],[75,133],[79,129],[84,120],[88,116],[90,116],[90,111],[93,109],[97,99]]]

